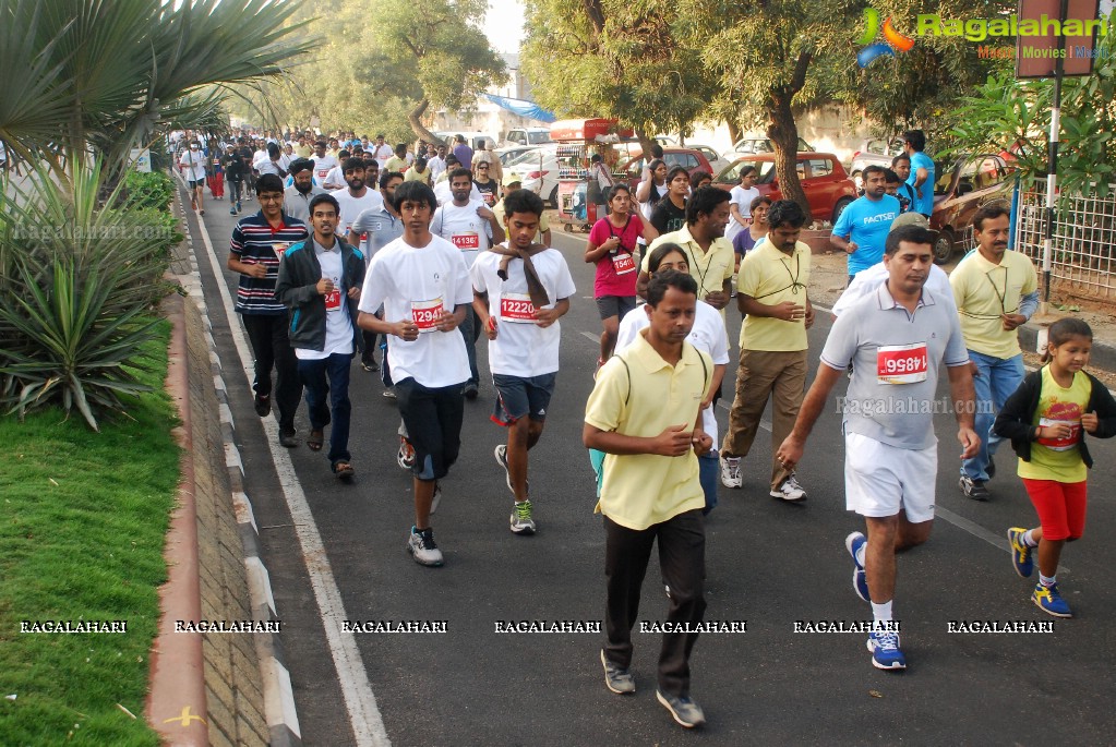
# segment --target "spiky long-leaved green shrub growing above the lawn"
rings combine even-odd
[[[146,175],[144,175],[146,176]],[[158,200],[158,182],[145,194]],[[70,186],[70,185],[67,185]],[[99,164],[78,167],[71,191],[39,168],[0,196],[0,406],[20,417],[59,402],[94,429],[124,414],[122,396],[148,389],[147,312],[166,293],[174,219],[136,208],[115,190],[102,203]]]

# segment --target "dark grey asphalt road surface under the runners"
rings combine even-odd
[[[233,219],[227,203],[206,201],[206,207],[205,225],[223,266]],[[199,225],[190,222],[196,239]],[[555,236],[578,293],[561,322],[561,371],[547,429],[531,453],[536,536],[508,531],[511,496],[492,458],[503,434],[489,420],[490,382],[466,402],[461,458],[443,483],[433,522],[446,565],[426,569],[405,551],[411,478],[395,464],[398,416],[381,396],[378,376],[354,365],[350,448],[357,478],[344,485],[330,475],[324,453],[305,446],[290,452],[292,475],[277,473],[247,380],[227,373],[305,744],[386,744],[385,734],[395,745],[1116,741],[1113,443],[1090,446],[1097,466],[1086,535],[1068,546],[1068,567],[1059,574],[1077,618],[1054,620],[1030,602],[1030,583],[1010,566],[1004,530],[1033,526],[1036,517],[1007,449],[1001,476],[990,485],[993,499],[969,502],[956,486],[954,424],[947,415],[935,418],[939,518],[930,542],[899,560],[895,612],[908,660],[903,673],[874,669],[864,634],[793,632],[799,620],[870,618],[850,585],[844,537],[863,526],[844,507],[844,448],[834,411],[816,427],[799,469],[809,492],[805,505],[767,495],[771,446],[761,431],[744,462],[743,489],[722,487],[720,506],[708,520],[706,619],[747,621],[747,632],[703,634],[696,644],[692,695],[705,709],[704,729],[685,731],[656,702],[656,634],[634,633],[638,689],[619,697],[603,682],[603,633],[496,632],[499,621],[604,617],[604,532],[593,514],[594,482],[580,442],[599,320],[591,268],[580,259],[583,237]],[[195,248],[205,251],[199,241]],[[218,282],[234,289],[235,279],[228,272],[214,278],[203,254],[199,265],[221,359],[235,361],[217,292]],[[730,319],[735,340],[739,314]],[[810,331],[811,371],[828,329],[828,314],[819,314]],[[481,368],[487,370],[483,341]],[[734,370],[727,381],[734,380]],[[722,407],[722,433],[727,415]],[[305,409],[298,427],[305,435]],[[297,483],[305,493],[325,557],[318,551],[304,556],[297,530],[305,534],[310,520],[292,520],[283,483],[287,492]],[[644,585],[642,617],[648,621],[662,619],[666,609],[655,563]],[[446,632],[345,633],[339,644],[338,610],[323,613],[317,601],[324,571],[331,571],[348,619],[445,621]],[[1054,620],[1054,631],[950,633],[952,620]],[[335,659],[343,661],[340,669]],[[359,696],[364,672],[374,700]]]

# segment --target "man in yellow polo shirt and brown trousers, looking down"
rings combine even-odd
[[[771,398],[771,497],[799,502],[806,491],[775,452],[790,435],[806,390],[806,330],[814,307],[810,248],[798,241],[806,214],[798,203],[780,200],[768,211],[767,241],[744,255],[737,278],[737,304],[747,314],[740,329],[737,396],[721,445],[721,484],[741,487],[740,463],[748,456]]]

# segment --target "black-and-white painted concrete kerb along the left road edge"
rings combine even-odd
[[[179,181],[181,183],[181,177]],[[196,278],[196,285],[191,284],[191,290],[198,288],[200,294],[201,274],[198,271],[196,253],[191,231],[190,222],[186,221],[186,235],[191,249],[191,274]],[[218,282],[222,282],[221,278],[217,280]],[[200,298],[199,301],[201,301]],[[202,310],[204,311],[203,305]],[[205,319],[208,321],[205,341],[210,348],[213,386],[217,389],[219,407],[221,409],[221,435],[224,442],[225,464],[232,487],[232,505],[243,544],[244,566],[248,572],[248,585],[251,595],[252,619],[257,622],[270,622],[278,620],[275,609],[275,595],[271,592],[270,575],[260,553],[260,535],[252,504],[243,489],[243,462],[240,458],[240,449],[235,445],[235,423],[232,410],[229,407],[228,387],[224,382],[221,360],[217,353],[217,342],[213,340],[213,321],[208,316]],[[295,691],[290,682],[289,670],[285,664],[285,654],[279,637],[273,632],[253,633],[253,642],[263,677],[264,717],[270,730],[270,744],[276,747],[299,747],[302,744],[302,739],[300,736],[301,729],[298,724],[298,714],[295,707]]]

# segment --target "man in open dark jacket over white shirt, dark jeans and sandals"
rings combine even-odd
[[[306,445],[311,452],[320,452],[324,429],[331,423],[329,465],[334,475],[347,481],[354,474],[348,450],[353,409],[348,398],[349,365],[360,340],[355,320],[364,284],[364,256],[335,234],[339,212],[333,195],[321,194],[310,201],[314,235],[283,256],[276,298],[291,311],[290,345],[298,357],[310,415]]]

